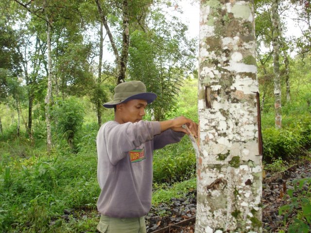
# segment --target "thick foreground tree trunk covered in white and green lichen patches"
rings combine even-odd
[[[262,232],[254,2],[201,0],[196,233]]]

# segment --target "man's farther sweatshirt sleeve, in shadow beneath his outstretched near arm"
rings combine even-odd
[[[177,143],[185,135],[182,132],[166,130],[154,137],[154,150],[161,149],[168,144]]]

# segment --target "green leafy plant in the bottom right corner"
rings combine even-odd
[[[289,233],[311,232],[311,178],[293,181],[294,189],[287,191],[290,202],[280,207],[278,214],[284,215],[284,225],[287,225],[289,216],[294,213],[289,225]]]

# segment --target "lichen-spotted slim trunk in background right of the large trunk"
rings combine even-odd
[[[276,128],[282,127],[281,82],[279,68],[279,20],[277,0],[272,0],[272,26],[273,26],[273,70],[274,70],[274,96],[275,96],[275,124]]]

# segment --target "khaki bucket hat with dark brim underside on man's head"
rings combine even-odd
[[[153,102],[156,99],[155,93],[146,91],[145,84],[140,81],[120,83],[115,87],[113,100],[104,103],[103,106],[105,108],[113,108],[115,105],[128,100],[147,100],[147,103]]]

